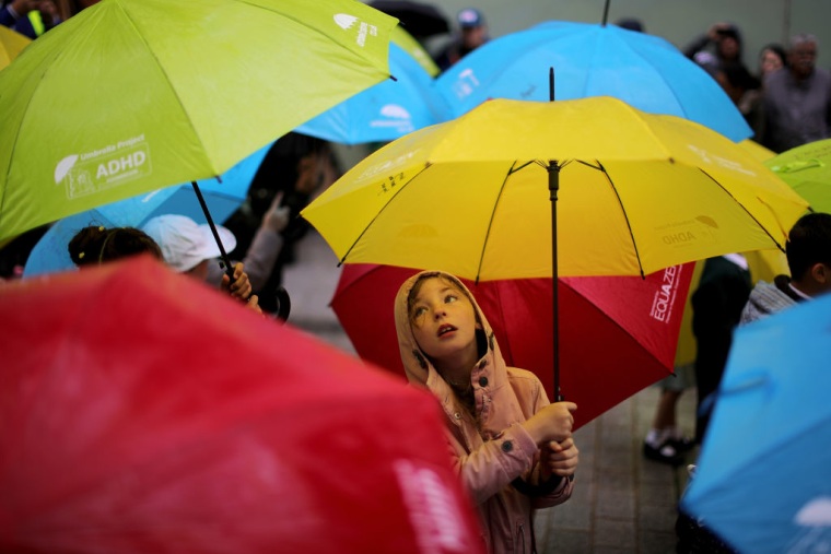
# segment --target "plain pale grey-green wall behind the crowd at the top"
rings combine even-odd
[[[419,0],[429,3],[431,0]],[[463,8],[479,8],[492,36],[501,36],[547,20],[599,23],[606,0],[433,0],[455,26]],[[609,22],[637,17],[651,34],[679,48],[717,21],[735,23],[745,38],[745,63],[758,67],[761,48],[786,44],[795,33],[819,38],[818,66],[831,69],[831,0],[611,0]],[[430,43],[435,46],[436,40]]]

